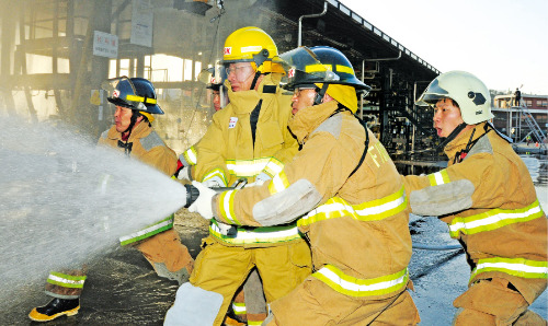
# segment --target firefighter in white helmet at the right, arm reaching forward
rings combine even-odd
[[[454,301],[454,323],[546,325],[527,308],[547,284],[546,214],[525,164],[489,123],[489,90],[468,72],[450,71],[418,104],[434,108],[449,163],[404,177],[411,209],[446,222],[472,269],[468,290]]]

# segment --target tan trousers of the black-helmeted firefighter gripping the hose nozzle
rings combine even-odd
[[[315,277],[271,303],[273,325],[416,325],[421,318],[407,290],[370,300],[339,293]]]

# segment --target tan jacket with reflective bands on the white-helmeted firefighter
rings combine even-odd
[[[470,139],[475,144],[461,155]],[[546,214],[527,167],[487,123],[459,135],[445,153],[447,168],[403,177],[412,212],[448,224],[473,269],[470,283],[507,279],[530,304],[546,289],[548,246]],[[454,163],[455,156],[464,159]]]

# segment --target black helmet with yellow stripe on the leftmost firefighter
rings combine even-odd
[[[109,92],[106,100],[114,105],[124,106],[148,114],[163,114],[157,103],[152,83],[144,78],[119,77],[109,79],[101,84]]]

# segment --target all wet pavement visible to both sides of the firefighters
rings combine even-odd
[[[548,207],[548,188],[537,187],[543,207]],[[411,217],[413,243],[453,245],[447,226],[436,218]],[[207,224],[198,216],[181,210],[175,217],[181,234],[193,257],[198,253]],[[142,255],[132,248],[113,248],[103,257],[88,263],[88,279],[81,296],[81,310],[71,317],[60,317],[47,325],[162,325],[178,284],[158,278]],[[413,300],[421,314],[421,325],[450,325],[456,310],[453,300],[466,291],[469,267],[463,251],[413,249],[410,276],[414,283]],[[19,291],[14,306],[3,312],[0,325],[38,325],[27,314],[32,307],[47,303],[44,283],[27,284]],[[548,317],[545,292],[530,307]]]

